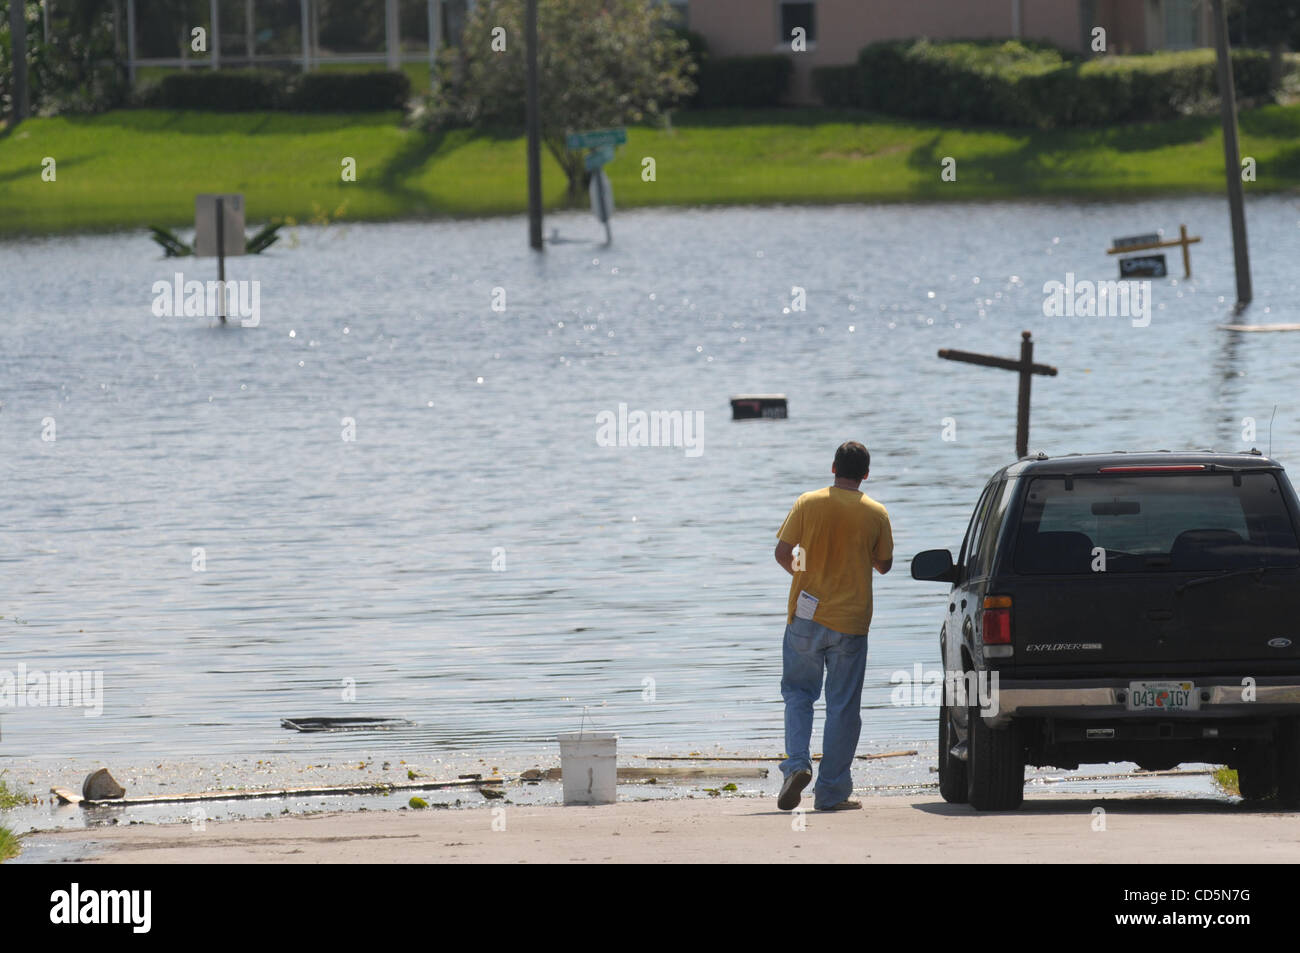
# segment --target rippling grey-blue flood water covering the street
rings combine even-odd
[[[1113,278],[1113,237],[1179,222],[1195,278],[1174,250],[1149,326],[1044,316],[1044,282]],[[1245,320],[1300,322],[1300,202],[1248,222]],[[893,672],[937,664],[944,592],[907,559],[959,542],[1017,389],[941,347],[1010,358],[1034,332],[1061,373],[1034,382],[1031,449],[1266,450],[1277,404],[1300,465],[1300,334],[1217,329],[1221,200],[645,211],[608,248],[586,215],[551,228],[581,241],[298,229],[228,263],[260,282],[256,328],[156,316],[153,282],[216,263],[143,233],[0,244],[0,670],[103,672],[99,716],[0,709],[0,766],[528,749],[584,706],[633,746],[779,751],[775,534],[844,439],[898,547],[863,738],[930,740],[935,709],[890,703]],[[731,420],[772,391],[788,420]],[[701,452],[599,446],[620,404],[699,411]],[[364,715],[416,727],[280,727]]]

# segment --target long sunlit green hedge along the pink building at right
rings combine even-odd
[[[1239,96],[1270,95],[1268,53],[1235,51],[1232,73]],[[1017,40],[874,43],[812,82],[827,105],[1039,129],[1173,118],[1218,96],[1212,49],[1076,60]]]

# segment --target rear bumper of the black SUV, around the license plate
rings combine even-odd
[[[1130,711],[1126,701],[1130,681],[1191,681],[1196,686],[1197,709],[1186,711]],[[1300,676],[1254,679],[1253,699],[1247,701],[1243,679],[1223,676],[1196,679],[1078,679],[1027,680],[1000,679],[997,714],[985,716],[991,724],[1006,724],[1014,718],[1063,719],[1219,719],[1300,715]]]

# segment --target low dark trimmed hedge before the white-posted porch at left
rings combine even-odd
[[[378,112],[404,109],[410,95],[411,81],[404,73],[250,69],[169,73],[140,99],[162,109]]]

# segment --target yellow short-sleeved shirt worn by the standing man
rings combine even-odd
[[[848,636],[864,636],[871,627],[871,560],[893,559],[889,514],[866,493],[827,486],[805,493],[790,507],[781,542],[796,553],[794,581],[785,621],[794,620],[800,592],[820,599],[812,621]]]

